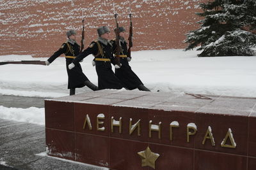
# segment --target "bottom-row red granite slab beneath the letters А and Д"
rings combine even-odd
[[[242,170],[247,169],[247,158],[218,152],[195,150],[195,170]]]

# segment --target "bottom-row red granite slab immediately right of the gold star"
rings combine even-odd
[[[194,150],[166,145],[149,144],[152,152],[158,153],[156,169],[193,170]],[[152,169],[152,168],[150,168]]]

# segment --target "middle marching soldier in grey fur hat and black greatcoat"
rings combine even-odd
[[[115,76],[112,70],[111,63],[115,64],[113,57],[113,49],[111,43],[108,41],[110,30],[107,26],[102,26],[97,29],[99,38],[93,41],[83,53],[80,53],[76,59],[69,64],[69,69],[74,69],[74,67],[79,64],[79,61],[84,59],[84,57],[93,54],[95,59],[96,72],[98,75],[98,86],[101,89],[122,89],[123,85],[120,80]]]

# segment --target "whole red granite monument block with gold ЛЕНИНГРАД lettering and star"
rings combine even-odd
[[[118,170],[253,170],[255,104],[136,90],[45,99],[47,154]]]

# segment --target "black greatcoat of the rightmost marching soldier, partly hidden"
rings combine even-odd
[[[114,53],[116,52],[116,39],[111,40],[111,44],[113,45]],[[127,42],[120,41],[121,51],[120,55],[127,55]],[[140,78],[132,71],[131,66],[129,66],[127,57],[120,57],[120,63],[122,66],[120,69],[115,69],[115,74],[119,78],[120,81],[124,84],[124,86],[133,90],[136,89],[139,85],[143,85]]]

